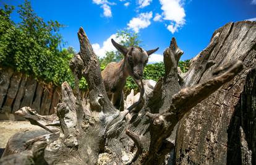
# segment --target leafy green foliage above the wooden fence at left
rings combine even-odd
[[[69,60],[74,49],[61,49],[63,27],[59,22],[43,19],[33,12],[29,1],[19,6],[21,22],[10,19],[14,7],[0,9],[0,64],[33,75],[45,82],[60,85],[73,82]]]

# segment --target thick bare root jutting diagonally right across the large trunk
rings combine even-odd
[[[226,82],[234,78],[243,68],[241,61],[233,61],[213,73],[213,78],[199,83],[194,87],[184,88],[173,96],[173,103],[169,111],[177,114],[181,119],[187,111],[197,103],[207,98],[211,93],[218,90]]]

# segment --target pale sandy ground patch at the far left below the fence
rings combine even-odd
[[[28,121],[0,121],[0,158],[9,138],[17,132],[41,129]]]

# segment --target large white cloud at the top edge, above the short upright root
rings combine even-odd
[[[171,21],[168,30],[171,33],[177,32],[186,20],[185,10],[182,6],[182,0],[160,0],[161,9],[163,10],[163,19]]]

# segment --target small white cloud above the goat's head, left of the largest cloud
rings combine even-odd
[[[134,30],[134,32],[138,33],[140,28],[147,28],[151,22],[150,19],[152,18],[152,12],[143,12],[139,14],[138,17],[134,17],[130,22],[127,24],[128,29]]]

